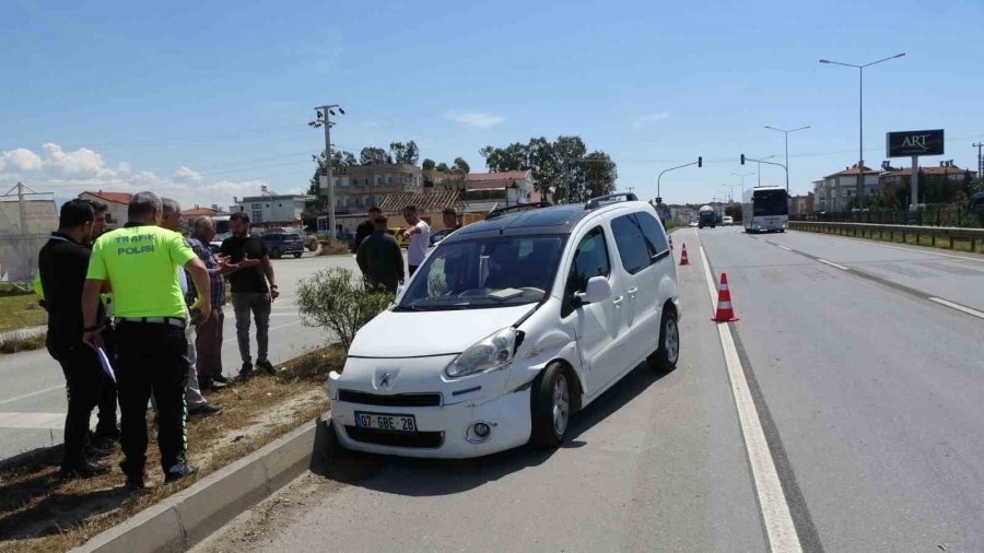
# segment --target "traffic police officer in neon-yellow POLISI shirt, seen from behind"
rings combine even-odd
[[[120,468],[127,487],[144,486],[147,403],[157,405],[157,447],[164,482],[197,472],[187,462],[185,380],[188,340],[185,301],[175,278],[178,267],[191,275],[198,299],[191,309],[211,310],[209,273],[180,234],[157,226],[163,216],[161,199],[153,192],[131,197],[124,228],[104,234],[93,245],[82,294],[84,334],[98,344],[99,291],[109,281],[116,316],[116,377],[121,420]]]

